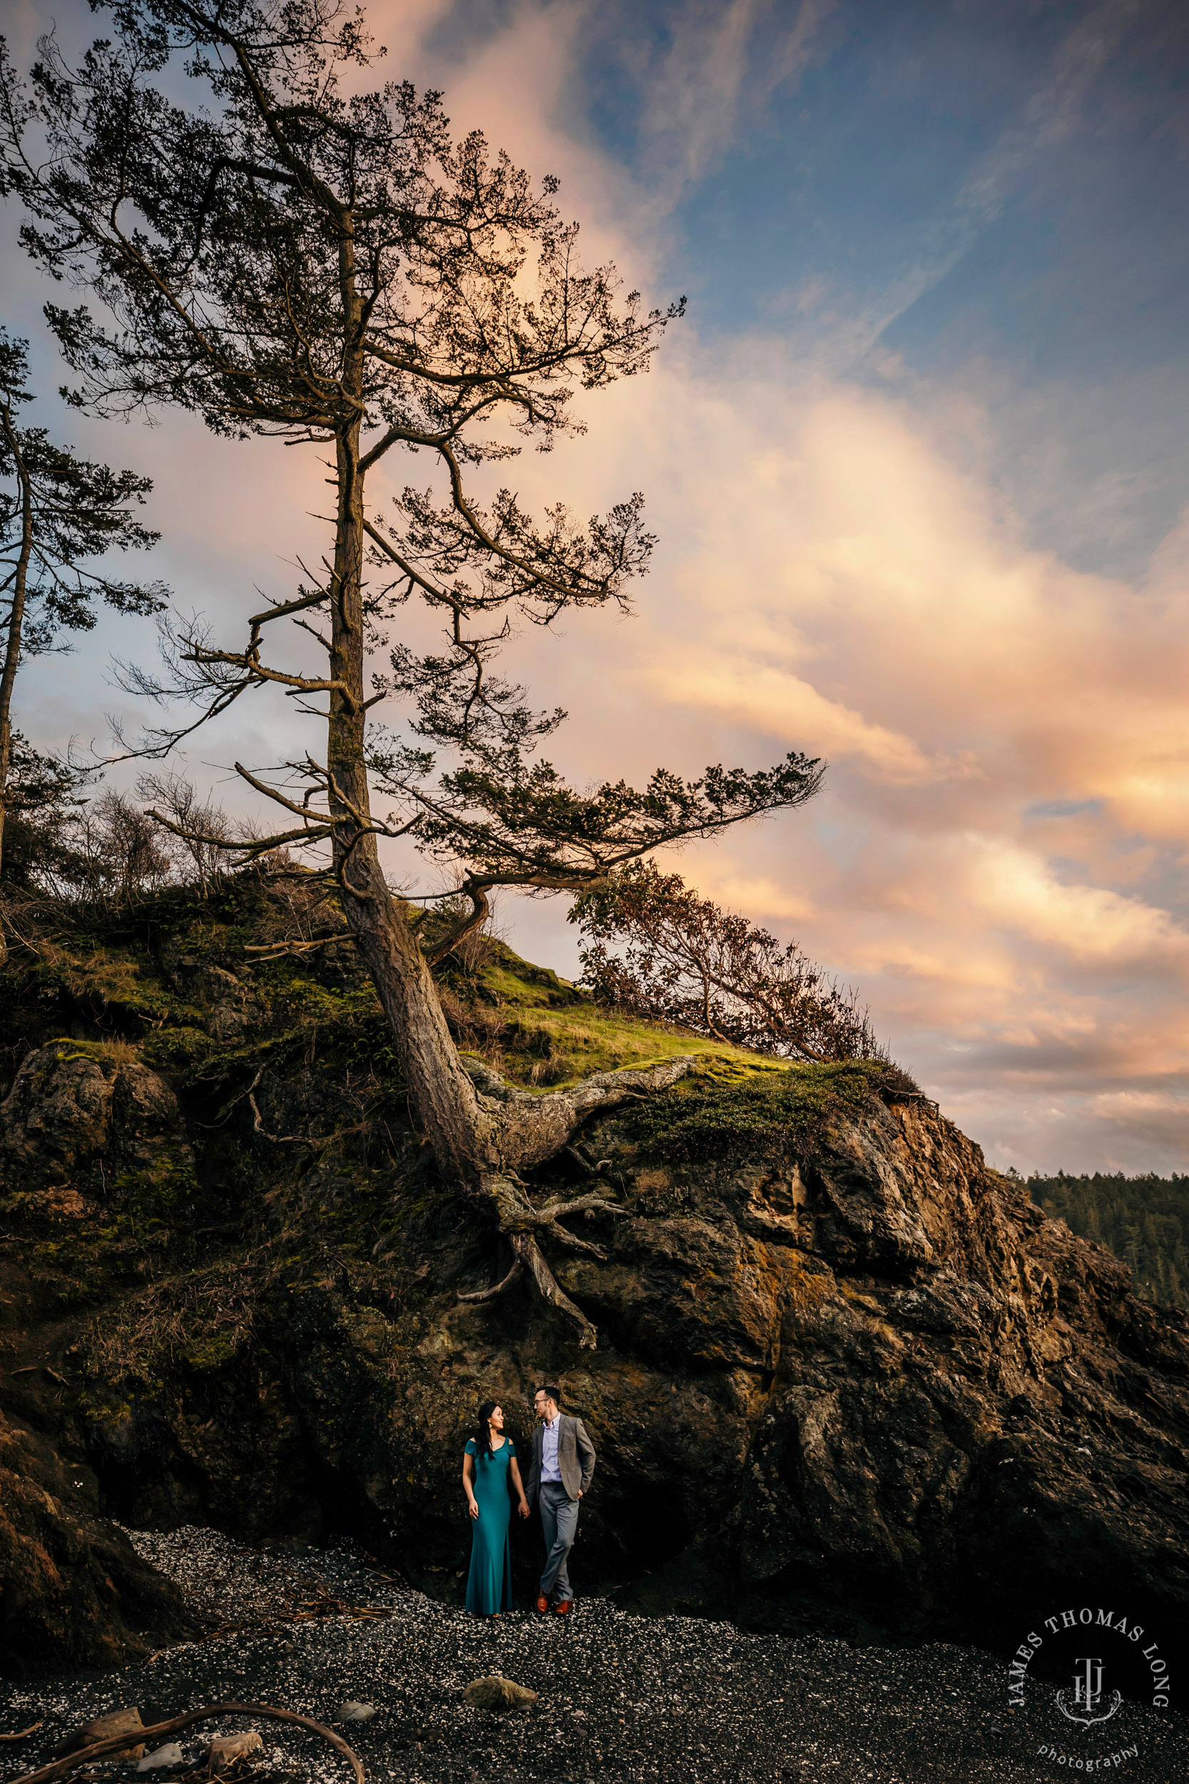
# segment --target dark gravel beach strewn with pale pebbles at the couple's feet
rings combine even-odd
[[[223,1627],[118,1673],[0,1681],[0,1732],[45,1723],[0,1747],[0,1779],[43,1764],[64,1732],[130,1704],[144,1722],[232,1700],[335,1723],[351,1698],[376,1706],[371,1722],[339,1725],[369,1784],[1016,1784],[1070,1770],[1118,1770],[1134,1784],[1189,1779],[1185,1718],[1125,1704],[1109,1741],[1102,1727],[1073,1723],[1062,1736],[1052,1686],[1030,1686],[1029,1706],[1009,1713],[1005,1657],[979,1648],[791,1641],[686,1616],[627,1616],[601,1598],[579,1598],[569,1620],[476,1622],[392,1582],[351,1545],[294,1557],[212,1531],[130,1534]],[[531,1686],[538,1702],[504,1716],[467,1707],[463,1686],[488,1673]],[[253,1725],[264,1736],[253,1784],[349,1784],[324,1739],[264,1720],[187,1730],[185,1757],[196,1761],[214,1732]],[[94,1775],[118,1784],[134,1768],[116,1761]]]

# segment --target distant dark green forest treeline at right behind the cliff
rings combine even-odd
[[[1189,1308],[1189,1176],[1029,1177],[1045,1213],[1070,1222],[1082,1238],[1107,1245],[1130,1265],[1136,1293]]]

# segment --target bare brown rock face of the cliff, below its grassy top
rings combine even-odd
[[[303,1133],[301,1110],[342,1104],[349,1070],[312,1045],[271,1065],[264,1124]],[[665,1111],[676,1131],[693,1094],[709,1115],[677,1147]],[[1136,1301],[1123,1265],[1045,1218],[918,1095],[877,1076],[824,1092],[791,1145],[772,1126],[740,1144],[734,1094],[679,1086],[651,1126],[624,1115],[585,1136],[620,1213],[578,1229],[603,1260],[551,1261],[599,1327],[595,1352],[528,1290],[458,1302],[504,1274],[501,1242],[433,1179],[396,1104],[364,1154],[271,1144],[242,1095],[201,1104],[221,1147],[203,1154],[201,1195],[223,1195],[230,1235],[175,1199],[169,1249],[216,1235],[200,1267],[103,1267],[68,1313],[64,1265],[46,1286],[21,1204],[9,1324],[29,1356],[53,1334],[62,1386],[30,1370],[7,1402],[86,1456],[96,1497],[71,1534],[21,1490],[5,1540],[25,1543],[23,1577],[59,1582],[32,1636],[25,1595],[9,1656],[32,1643],[41,1664],[75,1664],[86,1623],[98,1664],[128,1650],[130,1616],[157,1606],[168,1623],[102,1511],[253,1541],[349,1531],[458,1602],[469,1420],[499,1399],[522,1441],[551,1379],[599,1450],[579,1593],[1009,1647],[1066,1606],[1111,1604],[1173,1652],[1189,1609],[1185,1317]],[[139,1160],[157,1181],[166,1152],[191,1158],[196,1108],[146,1067],[53,1044],[0,1111],[9,1183],[59,1197],[55,1231],[93,1231],[98,1165]],[[578,1156],[538,1176],[542,1192],[592,1181]],[[522,1597],[538,1541],[535,1522],[513,1531]]]

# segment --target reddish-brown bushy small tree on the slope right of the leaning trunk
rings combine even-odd
[[[788,1060],[886,1060],[857,994],[652,862],[574,901],[583,983],[603,1003]]]

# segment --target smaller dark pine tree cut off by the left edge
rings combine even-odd
[[[132,471],[75,458],[45,428],[21,426],[29,348],[0,330],[0,594],[7,601],[0,669],[0,871],[12,767],[12,689],[27,657],[61,649],[62,632],[94,624],[96,598],[123,614],[164,607],[160,583],[132,583],[91,566],[112,548],[144,551],[157,542],[135,517],[153,487]],[[0,929],[0,960],[7,942]]]

